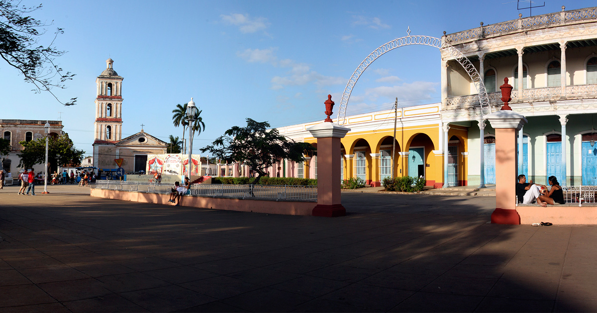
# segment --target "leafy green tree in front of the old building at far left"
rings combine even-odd
[[[45,162],[45,138],[32,141],[21,141],[24,149],[17,153],[21,158],[20,168],[31,168],[36,164]],[[48,141],[48,163],[52,165],[81,164],[85,151],[75,149],[69,135],[63,132],[62,135],[50,137]]]

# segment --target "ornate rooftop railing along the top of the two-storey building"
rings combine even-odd
[[[444,35],[444,39],[448,44],[457,45],[481,38],[492,38],[552,25],[576,24],[586,20],[597,21],[597,7],[571,11],[564,11],[564,7],[562,7],[562,11],[559,13],[549,13],[525,18],[522,18],[522,15],[519,14],[518,20],[504,21],[502,23],[487,26],[483,26],[483,23],[481,23],[481,26],[478,28]]]

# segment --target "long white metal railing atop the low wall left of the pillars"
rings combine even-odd
[[[96,188],[141,193],[170,193],[173,184],[127,181],[97,181]],[[193,184],[190,194],[199,197],[230,197],[247,199],[276,199],[317,201],[317,186],[301,185],[226,185]]]

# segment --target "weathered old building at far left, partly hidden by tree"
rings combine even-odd
[[[21,141],[32,141],[43,138],[45,122],[50,124],[50,136],[55,137],[62,134],[62,121],[60,120],[0,120],[0,132],[2,138],[10,142],[10,153],[2,158],[2,168],[4,171],[16,172],[19,170],[20,158],[17,156],[23,145]],[[42,165],[36,168],[36,171],[42,170]],[[56,168],[56,165],[51,165]]]

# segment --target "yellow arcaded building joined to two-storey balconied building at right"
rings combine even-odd
[[[518,137],[519,173],[541,184],[556,176],[562,185],[597,185],[597,8],[481,23],[441,39],[475,65],[491,111],[502,104],[504,78],[513,86],[510,107],[528,119]],[[343,178],[378,185],[394,168],[435,187],[495,183],[495,132],[481,113],[475,81],[451,53],[442,52],[441,64],[441,103],[400,109],[395,140],[393,110],[347,117]],[[315,143],[306,128],[320,122],[279,131]],[[281,160],[270,170],[316,178],[317,159]]]

